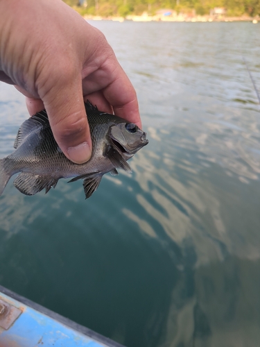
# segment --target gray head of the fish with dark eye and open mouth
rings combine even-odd
[[[121,122],[110,127],[112,146],[116,146],[125,158],[131,158],[139,149],[148,144],[146,133],[134,123]]]

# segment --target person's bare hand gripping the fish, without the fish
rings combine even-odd
[[[137,124],[137,95],[98,29],[62,0],[0,0],[0,81],[46,109],[56,142],[78,164],[91,156],[84,100]]]

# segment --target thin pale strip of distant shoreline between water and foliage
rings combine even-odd
[[[248,16],[241,16],[241,17],[212,17],[212,16],[185,16],[185,15],[177,15],[175,17],[158,17],[158,16],[148,16],[148,15],[141,15],[141,16],[135,16],[130,15],[127,17],[101,17],[101,16],[93,16],[93,15],[85,15],[85,19],[88,20],[96,20],[96,21],[102,21],[102,20],[111,20],[113,22],[125,22],[125,21],[132,21],[132,22],[252,22],[253,24],[260,24],[260,18],[259,17],[248,17]]]

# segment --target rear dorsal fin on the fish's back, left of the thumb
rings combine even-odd
[[[40,126],[49,126],[49,119],[45,110],[37,112],[35,115],[29,119],[26,119],[26,121],[21,124],[15,139],[14,148],[17,149],[25,137],[31,133],[31,131],[39,128]]]

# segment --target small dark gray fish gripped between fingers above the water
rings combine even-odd
[[[34,195],[42,189],[49,192],[60,178],[74,182],[83,178],[86,198],[98,188],[103,174],[117,175],[117,168],[131,172],[126,162],[148,144],[146,133],[125,119],[101,112],[89,101],[85,103],[90,133],[92,158],[84,164],[74,164],[62,153],[53,137],[46,111],[24,121],[15,139],[15,151],[0,160],[0,195],[8,180],[23,194]]]

